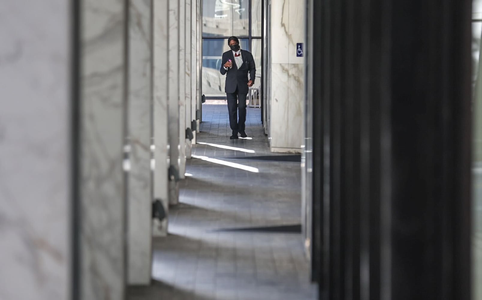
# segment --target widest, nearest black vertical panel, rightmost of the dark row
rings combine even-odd
[[[470,1],[392,5],[392,299],[468,300]]]

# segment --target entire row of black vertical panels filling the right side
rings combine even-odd
[[[471,1],[308,5],[320,298],[469,300]]]

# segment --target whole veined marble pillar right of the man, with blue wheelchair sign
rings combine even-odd
[[[302,1],[303,2],[303,1]],[[271,151],[301,152],[303,137],[305,5],[271,0]]]

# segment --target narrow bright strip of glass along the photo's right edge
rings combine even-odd
[[[473,62],[473,154],[472,154],[472,299],[482,299],[482,65],[481,34],[482,1],[473,1],[472,62]]]

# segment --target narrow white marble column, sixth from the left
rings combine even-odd
[[[179,0],[179,176],[186,173],[186,0]]]

